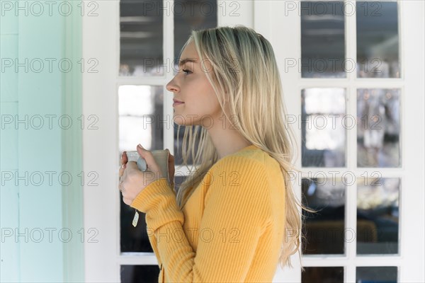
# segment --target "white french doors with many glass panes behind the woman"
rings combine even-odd
[[[98,127],[84,130],[84,171],[98,185],[84,187],[84,226],[98,242],[84,246],[86,282],[156,282],[145,221],[132,227],[118,191],[120,151],[168,148],[184,180],[165,86],[191,28],[235,24],[273,45],[300,153],[292,181],[319,211],[305,215],[305,272],[294,255],[273,281],[423,279],[421,1],[87,2],[83,55],[98,71],[83,74],[83,111]]]

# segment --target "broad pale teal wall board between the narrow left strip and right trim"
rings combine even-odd
[[[28,122],[28,127],[21,127],[25,123],[18,127],[18,162],[20,175],[28,174],[29,179],[27,184],[19,183],[19,222],[22,232],[43,232],[40,242],[38,235],[31,236],[28,243],[20,242],[21,280],[62,282],[63,243],[58,235],[62,228],[62,185],[57,178],[62,173],[62,141],[57,119],[50,115],[62,115],[63,81],[55,61],[51,72],[45,63],[49,58],[57,62],[63,57],[64,18],[57,13],[38,17],[20,13],[18,19],[18,62],[23,64],[18,69],[18,115]],[[46,117],[53,118],[51,129],[46,127]],[[40,129],[35,125],[37,120],[43,121]],[[45,172],[51,172],[52,183]],[[41,185],[31,178],[37,174],[44,178]],[[46,238],[47,229],[56,229],[50,230],[51,242]],[[47,267],[50,272],[46,272]]]

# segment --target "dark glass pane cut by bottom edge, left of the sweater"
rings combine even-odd
[[[122,283],[158,283],[158,265],[121,265]]]

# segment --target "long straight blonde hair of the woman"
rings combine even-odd
[[[300,253],[302,219],[298,207],[302,204],[293,192],[290,171],[300,171],[292,163],[293,149],[297,146],[293,129],[285,120],[286,108],[273,48],[266,38],[244,25],[192,30],[182,51],[191,41],[200,62],[207,60],[210,64],[205,74],[222,109],[227,109],[225,103],[229,103],[230,112],[224,111],[227,119],[236,120],[234,127],[245,139],[280,163],[285,180],[286,221],[279,262],[281,267],[292,266],[290,255]],[[195,152],[196,144],[198,150]],[[180,208],[218,158],[202,125],[185,127],[181,151],[183,166],[188,166],[191,156],[195,170],[190,171],[177,192]]]

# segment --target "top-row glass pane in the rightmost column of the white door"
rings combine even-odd
[[[399,78],[396,1],[357,1],[357,76]]]

